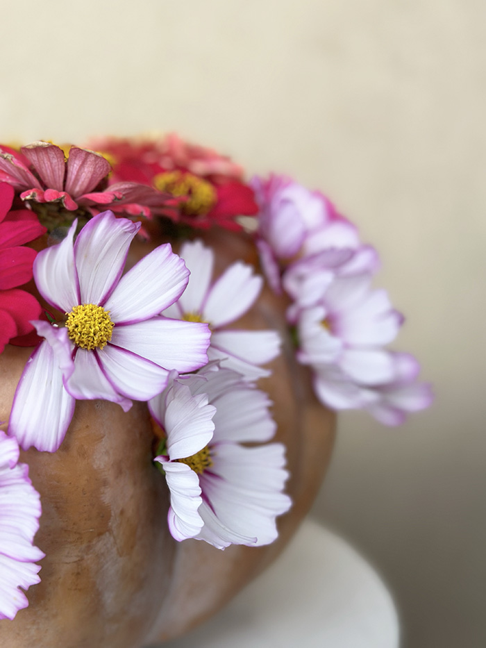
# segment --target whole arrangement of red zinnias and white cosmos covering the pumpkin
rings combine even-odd
[[[88,146],[0,147],[0,353],[32,347],[0,431],[2,619],[28,605],[19,588],[39,582],[44,556],[19,447],[56,452],[79,400],[147,404],[147,470],[167,483],[175,540],[276,539],[292,503],[260,379],[280,335],[238,324],[264,283],[323,406],[397,425],[432,399],[417,361],[387,348],[403,317],[372,285],[376,250],[324,194],[285,176],[246,181],[176,135]],[[253,256],[216,273],[200,238],[211,229],[251,241]],[[153,245],[155,232],[165,242]]]

